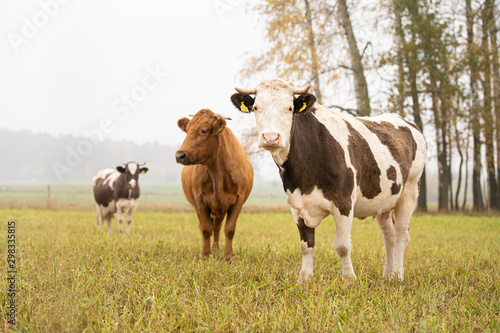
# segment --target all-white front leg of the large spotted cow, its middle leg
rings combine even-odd
[[[349,216],[342,215],[338,209],[334,209],[333,217],[335,218],[335,251],[340,256],[342,263],[342,280],[354,281],[356,274],[352,268],[351,262],[351,226],[353,219],[353,209]]]

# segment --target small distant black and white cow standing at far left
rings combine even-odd
[[[118,213],[118,231],[123,232],[123,214],[127,214],[127,233],[130,232],[132,215],[137,208],[137,200],[141,194],[139,174],[146,173],[148,168],[141,168],[145,163],[123,163],[125,167],[104,169],[92,179],[94,198],[97,206],[97,225],[103,228],[104,220],[108,221],[108,232],[112,233],[111,221]]]

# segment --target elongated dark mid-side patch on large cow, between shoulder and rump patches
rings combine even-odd
[[[348,149],[351,163],[357,170],[356,182],[361,194],[367,199],[373,199],[379,195],[380,188],[380,169],[373,152],[366,142],[365,138],[356,131],[351,124],[345,122],[349,130]]]

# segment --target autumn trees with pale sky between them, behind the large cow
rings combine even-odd
[[[439,175],[432,182],[424,171],[418,209],[434,190],[440,211],[467,201],[500,209],[498,0],[265,0],[251,10],[267,44],[241,78],[278,75],[311,85],[330,108],[414,121],[429,146],[426,170],[432,163]]]

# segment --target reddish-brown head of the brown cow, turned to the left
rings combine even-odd
[[[219,137],[226,127],[226,119],[230,118],[208,109],[198,111],[191,120],[179,119],[177,125],[187,135],[181,148],[175,153],[177,163],[209,164],[219,146]]]

